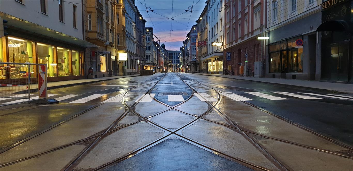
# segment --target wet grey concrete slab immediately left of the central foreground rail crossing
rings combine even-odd
[[[104,137],[80,161],[75,170],[97,168],[161,138],[164,131],[145,121],[124,127]]]

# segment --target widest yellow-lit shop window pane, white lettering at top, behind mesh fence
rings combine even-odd
[[[34,63],[33,58],[33,46],[32,41],[23,40],[14,37],[7,37],[8,39],[8,59],[11,63]],[[28,71],[28,65],[16,65],[10,66],[9,68],[10,78],[28,78],[35,77],[33,65],[30,66]]]

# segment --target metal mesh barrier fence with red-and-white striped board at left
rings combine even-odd
[[[0,106],[47,96],[47,64],[0,62]]]

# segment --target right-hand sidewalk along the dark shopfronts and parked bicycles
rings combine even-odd
[[[307,81],[307,80],[293,80],[293,79],[279,79],[279,78],[255,78],[255,77],[241,77],[235,75],[221,75],[221,74],[204,74],[204,73],[192,73],[207,76],[216,76],[224,78],[233,78],[238,80],[248,80],[256,81],[262,83],[279,84],[286,86],[296,86],[307,89],[316,90],[329,90],[334,93],[345,93],[353,94],[353,84],[343,84],[343,83],[330,83],[330,82],[320,82],[320,81]]]

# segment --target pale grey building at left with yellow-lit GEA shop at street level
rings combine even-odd
[[[8,36],[0,37],[0,62],[47,64],[48,82],[85,78],[83,6],[68,1],[1,1]],[[16,10],[14,10],[16,9]],[[37,68],[0,66],[0,82],[28,79]]]

